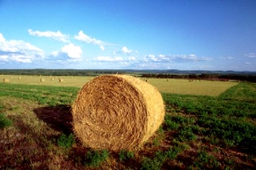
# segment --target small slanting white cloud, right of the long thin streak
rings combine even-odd
[[[78,41],[82,41],[85,42],[87,44],[94,44],[94,45],[98,45],[100,47],[100,49],[105,50],[104,45],[107,45],[108,43],[103,42],[101,40],[92,38],[87,36],[86,34],[84,34],[82,31],[79,31],[78,35],[74,36],[74,39],[78,40]]]

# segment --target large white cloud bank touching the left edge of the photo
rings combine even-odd
[[[31,63],[44,58],[44,51],[24,41],[6,41],[0,34],[0,61],[14,61],[18,63]]]

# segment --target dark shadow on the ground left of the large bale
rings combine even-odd
[[[46,122],[50,128],[62,131],[64,134],[73,133],[71,107],[57,105],[52,107],[39,107],[33,110],[39,119]]]

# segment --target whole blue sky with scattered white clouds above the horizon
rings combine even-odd
[[[0,0],[0,69],[256,71],[256,1]]]

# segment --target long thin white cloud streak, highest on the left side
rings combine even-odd
[[[48,37],[50,39],[54,39],[61,42],[70,42],[68,39],[70,38],[69,35],[63,34],[60,31],[33,31],[32,29],[28,29],[28,33],[31,36],[38,36],[38,37]]]

